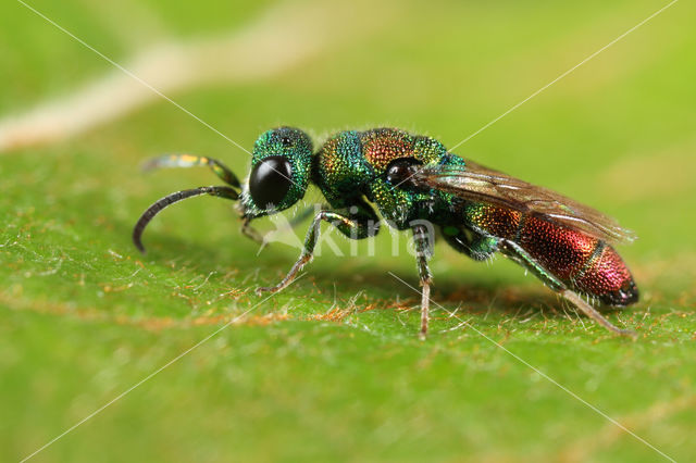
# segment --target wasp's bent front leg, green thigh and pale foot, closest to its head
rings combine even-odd
[[[380,230],[378,218],[372,208],[365,203],[359,203],[351,208],[350,211],[351,213],[348,215],[333,211],[321,211],[318,213],[307,232],[302,252],[297,262],[295,262],[295,265],[293,265],[293,268],[290,268],[281,283],[273,287],[259,288],[257,289],[257,293],[260,295],[265,291],[277,292],[293,283],[297,274],[314,255],[314,247],[319,242],[322,221],[331,223],[338,228],[340,233],[351,239],[368,238],[377,234]]]

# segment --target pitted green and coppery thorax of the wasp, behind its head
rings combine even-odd
[[[314,182],[332,205],[345,207],[350,199],[364,196],[398,228],[407,227],[412,220],[446,214],[451,199],[448,193],[409,190],[387,180],[389,164],[405,158],[423,165],[464,163],[430,137],[395,128],[351,130],[332,137],[322,147]]]

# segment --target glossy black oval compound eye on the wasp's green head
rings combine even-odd
[[[272,155],[258,163],[249,176],[251,199],[261,209],[276,207],[293,185],[293,166],[287,158]]]

